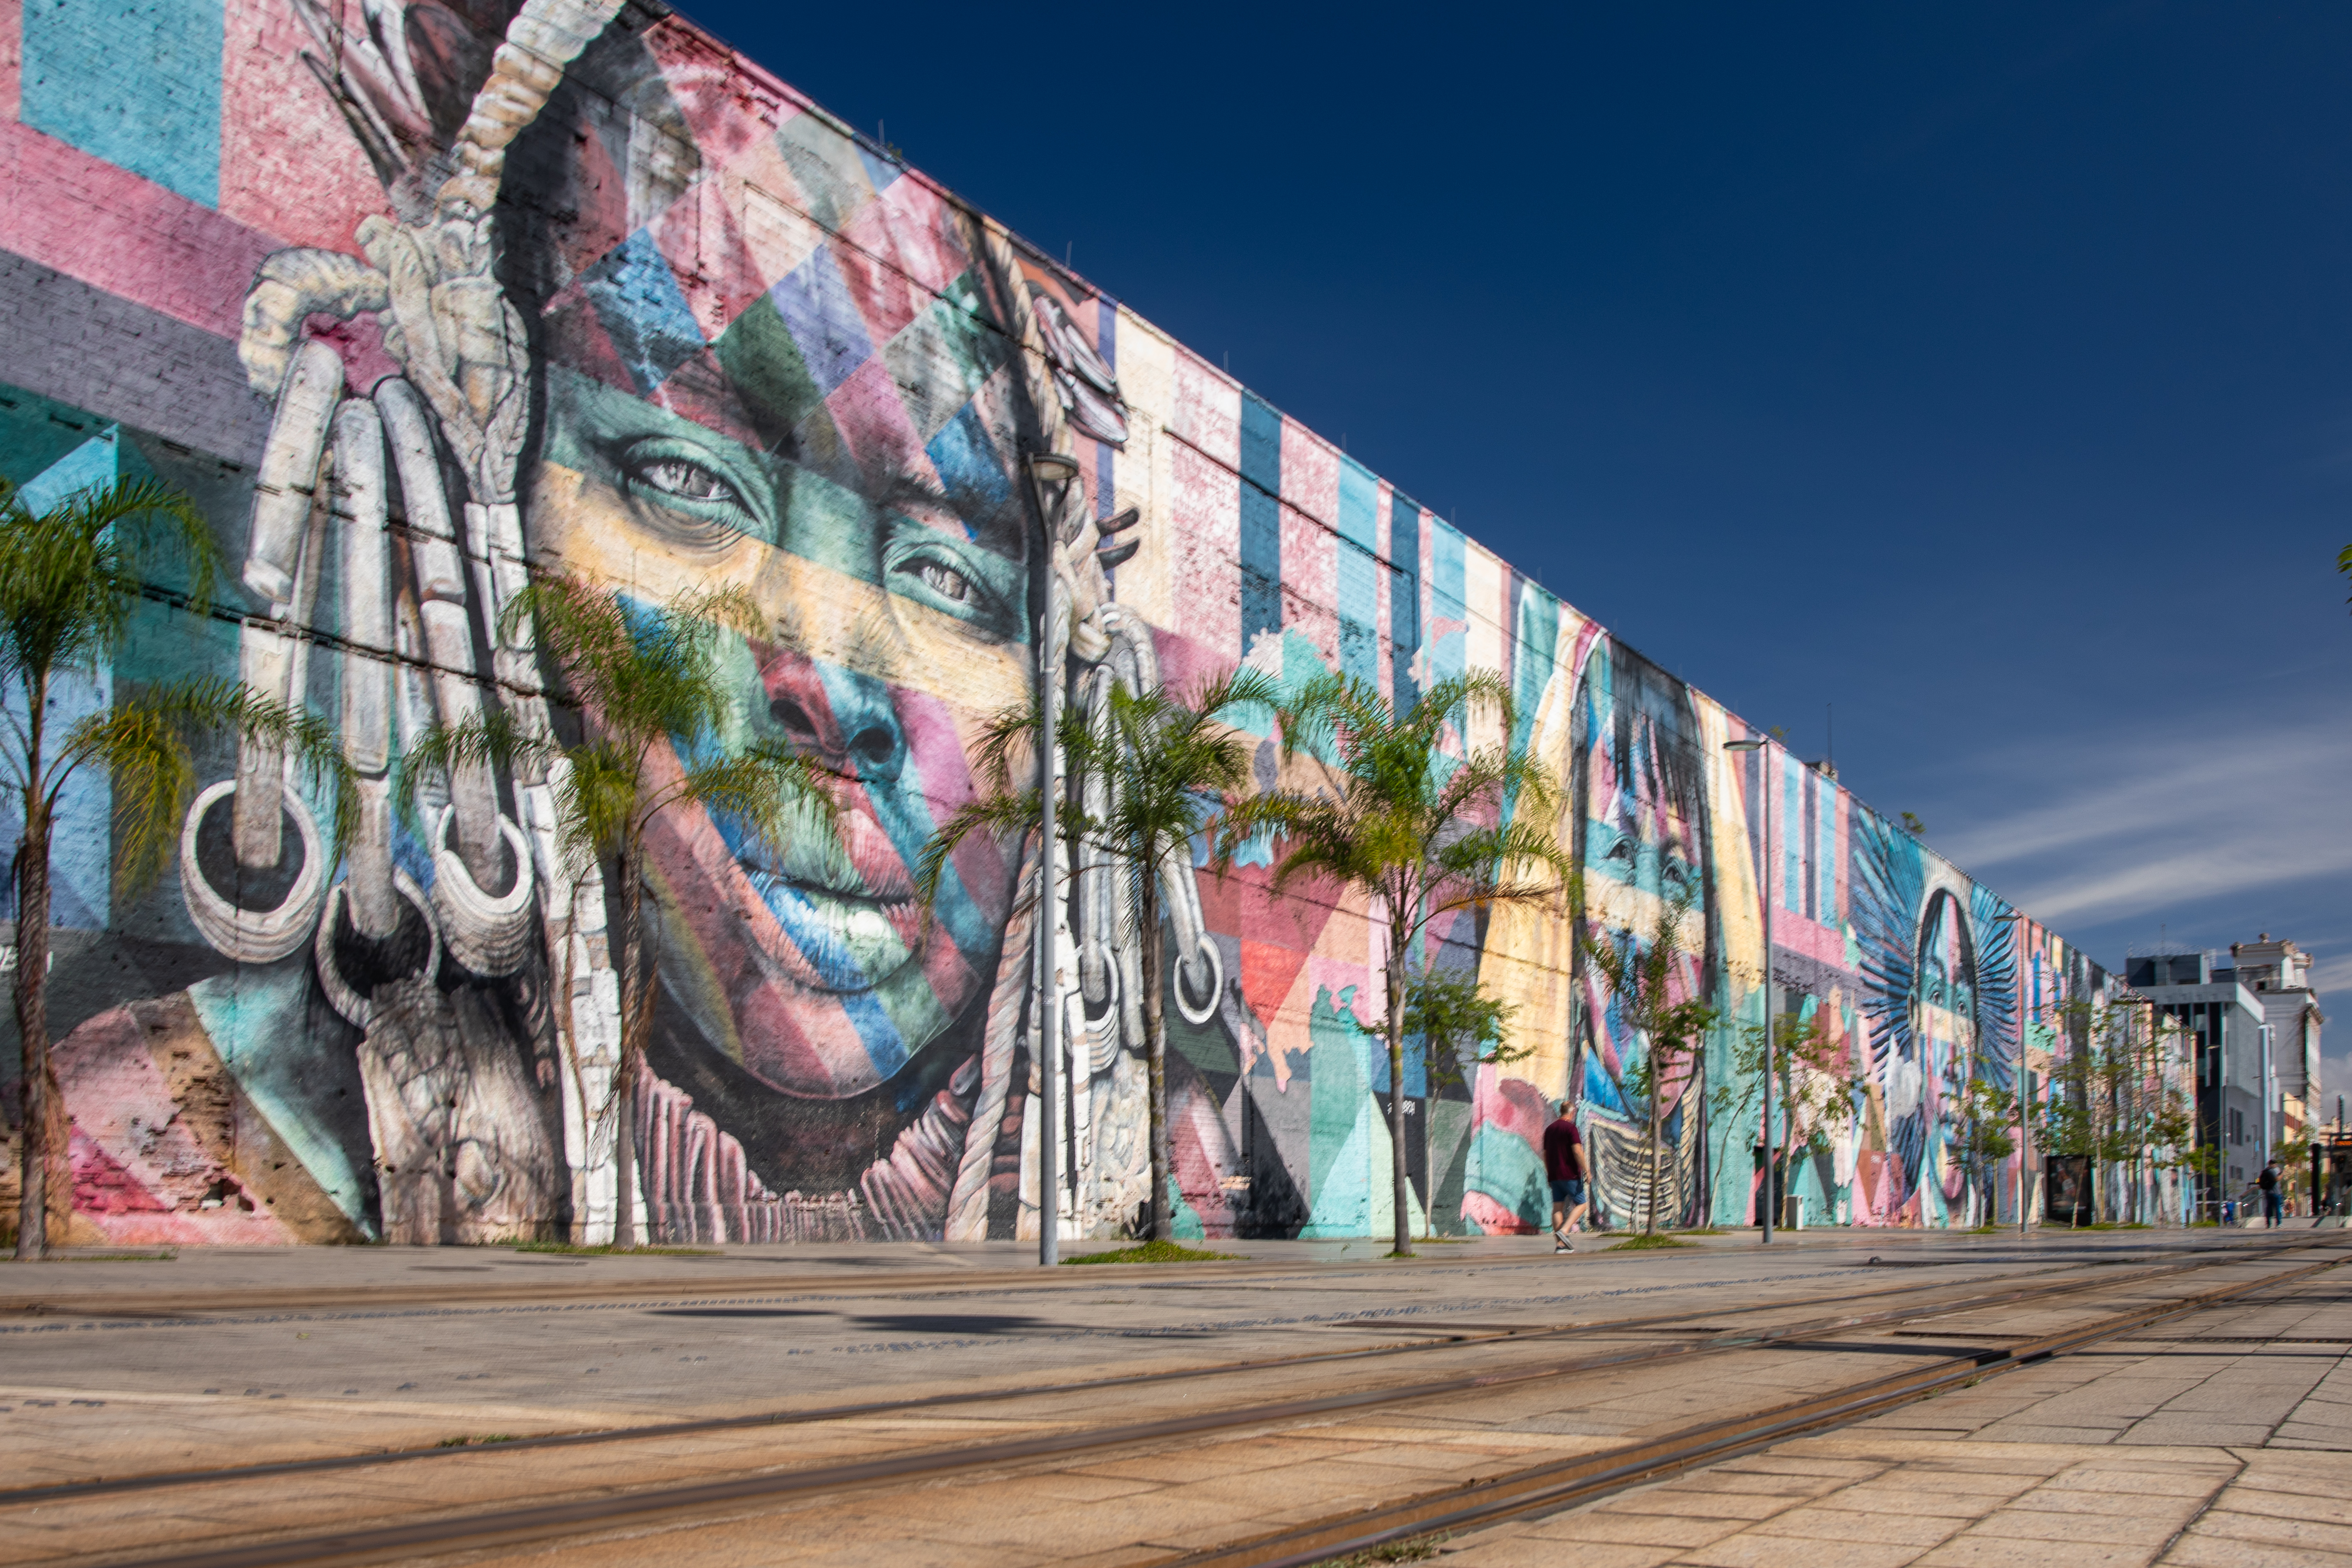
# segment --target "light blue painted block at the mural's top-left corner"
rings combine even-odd
[[[19,120],[191,202],[219,207],[221,2],[26,5]]]

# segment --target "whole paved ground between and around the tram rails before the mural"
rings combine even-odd
[[[1555,1258],[1541,1237],[1494,1239],[1430,1246],[1423,1262],[1390,1262],[1381,1258],[1383,1244],[1367,1241],[1240,1244],[1223,1248],[1244,1253],[1240,1262],[1051,1272],[1016,1246],[687,1258],[348,1248],[12,1267],[0,1269],[0,1288],[49,1302],[38,1312],[0,1312],[0,1472],[16,1486],[386,1448],[433,1458],[26,1502],[0,1530],[0,1563],[99,1561],[158,1540],[346,1528],[419,1507],[576,1500],[769,1467],[866,1462],[927,1443],[1025,1441],[1230,1401],[1486,1378],[1552,1356],[1644,1352],[1564,1382],[1512,1375],[1435,1401],[1152,1439],[1110,1458],[1073,1453],[946,1481],[760,1500],[734,1516],[644,1521],[477,1559],[635,1568],[659,1556],[767,1568],[788,1542],[793,1561],[833,1568],[974,1561],[1131,1568],[1423,1488],[1668,1436],[1740,1408],[1818,1396],[1943,1359],[1955,1342],[2060,1331],[2112,1312],[2114,1295],[2103,1286],[2096,1300],[1955,1305],[1910,1319],[1917,1333],[1837,1335],[1733,1359],[1646,1356],[1677,1333],[1712,1333],[1696,1324],[1726,1321],[1700,1314],[1788,1309],[1809,1321],[1823,1312],[1867,1314],[1872,1307],[1863,1302],[1872,1300],[1912,1300],[1919,1286],[1952,1288],[1940,1300],[1959,1302],[1985,1295],[1978,1281],[2060,1279],[2112,1281],[2126,1300],[2157,1302],[2347,1251],[2328,1237],[2319,1253],[2267,1258],[2265,1239],[2244,1232],[2058,1232],[2027,1244],[2013,1234],[1809,1232],[1771,1248],[1752,1234],[1705,1241]],[[2220,1267],[2161,1272],[2180,1246],[2209,1251]],[[2157,1269],[2143,1274],[2140,1265]],[[80,1284],[113,1276],[134,1284],[120,1291]],[[2067,1568],[2077,1554],[2145,1563],[2166,1542],[2187,1542],[2190,1535],[2180,1542],[2173,1535],[2192,1521],[2204,1530],[2209,1521],[2253,1519],[2274,1507],[2263,1497],[2286,1488],[2267,1467],[2343,1462],[2321,1450],[2345,1446],[2352,1392],[2340,1368],[2352,1340],[2312,1342],[2352,1335],[2343,1279],[2317,1274],[2303,1295],[2166,1321],[2164,1340],[2117,1340],[1955,1389],[1875,1425],[1449,1544],[1472,1563],[1552,1563],[1562,1561],[1562,1542],[1573,1540],[1578,1568],[1588,1559],[1816,1568],[1910,1563],[1955,1547],[1962,1535],[1980,1554],[1992,1552],[1987,1542],[2030,1540],[2046,1561],[2049,1537],[2018,1530],[2056,1528],[2072,1530],[2060,1537],[2074,1542],[2063,1554]],[[59,1307],[75,1298],[99,1309],[78,1316]],[[200,1300],[223,1305],[195,1307]],[[1684,1316],[1644,1326],[1658,1314]],[[1573,1333],[1557,1340],[1496,1335],[1557,1333],[1571,1324]],[[1390,1347],[1430,1347],[1454,1333],[1470,1338],[1385,1359]],[[1348,1359],[1329,1363],[1334,1352]],[[1381,1359],[1364,1359],[1367,1352]],[[1136,1380],[1235,1363],[1251,1366],[1247,1378]],[[1070,1396],[1075,1382],[1105,1385]],[[875,1408],[816,1425],[647,1434],[612,1446],[506,1441],[978,1389],[1018,1396]],[[2232,1425],[2216,1425],[2216,1401],[2227,1401]],[[2303,1450],[2288,1453],[2286,1443]],[[2263,1467],[2241,1458],[2246,1450]],[[2241,1488],[2230,1495],[2244,1495],[2246,1507],[2213,1502],[2227,1488]],[[1736,1502],[1724,1502],[1726,1495]],[[2082,1502],[2136,1495],[2164,1502]],[[1903,1507],[1903,1497],[1931,1502]],[[2197,1519],[2206,1505],[2213,1505],[2206,1519]],[[2072,1519],[2098,1507],[2119,1507],[2112,1516],[2124,1523]],[[2152,1523],[2159,1519],[2171,1521],[2161,1537]],[[2333,1528],[2331,1519],[2303,1523]],[[2084,1530],[2122,1540],[2084,1544]],[[656,1537],[661,1544],[649,1547]]]

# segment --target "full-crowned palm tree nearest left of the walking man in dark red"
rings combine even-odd
[[[1437,682],[1397,712],[1376,686],[1319,675],[1277,710],[1282,757],[1310,752],[1324,780],[1312,790],[1268,790],[1240,799],[1216,837],[1218,872],[1244,844],[1287,842],[1275,889],[1298,877],[1331,877],[1376,900],[1388,924],[1388,1154],[1397,1255],[1411,1258],[1414,1227],[1404,1152],[1404,1011],[1411,945],[1432,919],[1498,903],[1576,896],[1576,863],[1552,820],[1559,790],[1543,766],[1508,745],[1468,745],[1477,715],[1512,729],[1510,684],[1479,670]],[[1444,752],[1463,731],[1463,755]],[[1508,820],[1505,820],[1508,818]]]

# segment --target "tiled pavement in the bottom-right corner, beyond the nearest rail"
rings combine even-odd
[[[2328,1272],[1442,1554],[1458,1568],[2352,1566],[2347,1352],[2352,1295]]]

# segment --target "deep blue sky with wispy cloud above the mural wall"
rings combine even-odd
[[[2352,7],[684,9],[2093,957],[2352,1004]]]

